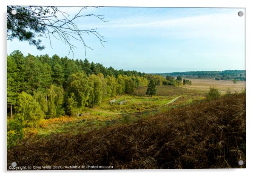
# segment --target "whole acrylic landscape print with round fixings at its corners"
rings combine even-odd
[[[245,168],[245,8],[7,6],[7,170]]]

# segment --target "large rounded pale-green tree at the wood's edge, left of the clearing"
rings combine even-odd
[[[66,93],[68,98],[74,99],[74,102],[77,103],[77,115],[79,111],[88,105],[89,99],[89,86],[88,86],[88,77],[82,72],[77,74],[72,74],[67,81]],[[71,97],[71,93],[74,96]]]

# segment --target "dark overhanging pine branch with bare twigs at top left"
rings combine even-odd
[[[91,49],[91,47],[85,44],[83,34],[92,34],[99,39],[102,46],[103,42],[105,42],[104,37],[96,29],[81,30],[74,21],[94,16],[102,22],[106,22],[103,15],[82,14],[86,8],[81,8],[74,17],[70,18],[70,15],[54,6],[22,7],[9,5],[7,6],[7,40],[17,38],[19,41],[28,41],[37,50],[43,50],[45,46],[41,44],[42,41],[38,38],[49,38],[50,45],[51,38],[56,38],[68,45],[68,54],[72,52],[74,57],[76,46],[70,40],[74,38],[81,41],[86,55],[86,48]],[[12,14],[12,10],[16,10],[17,14]]]

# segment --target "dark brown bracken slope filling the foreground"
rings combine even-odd
[[[7,151],[7,165],[245,168],[237,164],[246,160],[245,93],[169,109],[133,123],[84,130],[86,126],[76,135],[30,137]]]

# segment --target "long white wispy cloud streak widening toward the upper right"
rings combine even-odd
[[[236,13],[202,14],[186,17],[132,16],[107,23],[80,24],[80,27],[112,31],[113,35],[162,36],[175,38],[220,37],[233,40],[244,33],[244,18]],[[118,32],[115,32],[118,31]],[[236,37],[234,37],[236,36]]]

